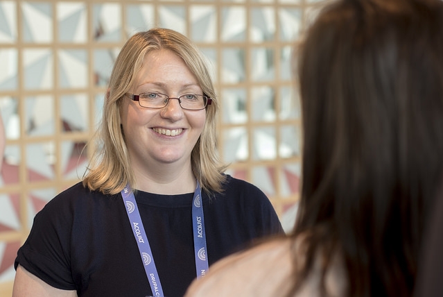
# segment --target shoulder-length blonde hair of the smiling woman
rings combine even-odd
[[[128,150],[121,130],[119,110],[123,96],[130,90],[142,67],[147,53],[168,49],[184,60],[202,88],[203,94],[212,99],[206,108],[206,122],[191,152],[194,176],[207,193],[223,192],[225,165],[220,163],[216,151],[216,114],[218,101],[205,60],[198,48],[184,35],[166,28],[153,28],[130,37],[116,59],[105,96],[101,126],[95,139],[98,148],[89,162],[83,185],[103,194],[121,192],[127,183],[134,186]]]

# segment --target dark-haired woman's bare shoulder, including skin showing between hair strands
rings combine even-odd
[[[286,296],[294,284],[296,263],[304,260],[301,237],[278,237],[209,267],[205,278],[195,280],[186,297],[200,296]],[[320,258],[295,296],[321,296]],[[341,257],[333,257],[325,285],[329,296],[343,296],[345,270]]]

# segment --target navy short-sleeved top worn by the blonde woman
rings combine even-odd
[[[254,239],[283,232],[260,189],[231,176],[224,189],[211,199],[202,194],[209,265]],[[137,191],[135,197],[164,294],[183,296],[196,278],[193,193]],[[53,287],[77,290],[78,296],[153,295],[121,194],[105,196],[81,183],[37,213],[18,264]]]

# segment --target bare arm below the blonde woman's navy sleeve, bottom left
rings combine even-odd
[[[52,287],[22,266],[17,267],[12,289],[12,297],[77,297],[76,291],[67,291]]]

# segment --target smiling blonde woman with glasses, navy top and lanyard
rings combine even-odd
[[[183,296],[208,263],[283,232],[263,192],[223,174],[217,108],[186,37],[133,35],[110,78],[103,148],[82,183],[36,215],[13,295]]]

